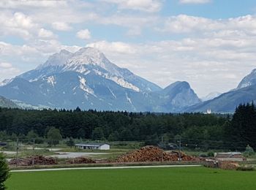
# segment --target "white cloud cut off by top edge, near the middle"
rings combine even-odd
[[[118,9],[134,9],[143,12],[158,12],[162,7],[159,0],[102,0],[118,5]]]

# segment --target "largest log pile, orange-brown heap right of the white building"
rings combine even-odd
[[[117,162],[143,162],[143,161],[178,161],[179,154],[182,161],[203,161],[203,159],[189,156],[183,152],[173,151],[166,153],[155,146],[145,146],[137,151],[132,151],[119,157]]]

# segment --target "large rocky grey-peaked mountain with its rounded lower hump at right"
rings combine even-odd
[[[2,84],[0,94],[39,107],[133,112],[176,112],[200,102],[188,83],[162,89],[92,47],[53,54],[45,64]]]

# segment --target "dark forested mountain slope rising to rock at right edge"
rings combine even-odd
[[[238,104],[256,101],[256,69],[244,77],[238,87],[220,96],[187,108],[188,112],[233,113]]]

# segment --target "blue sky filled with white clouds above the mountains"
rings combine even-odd
[[[80,47],[200,97],[256,68],[255,0],[1,0],[0,23],[0,81]]]

